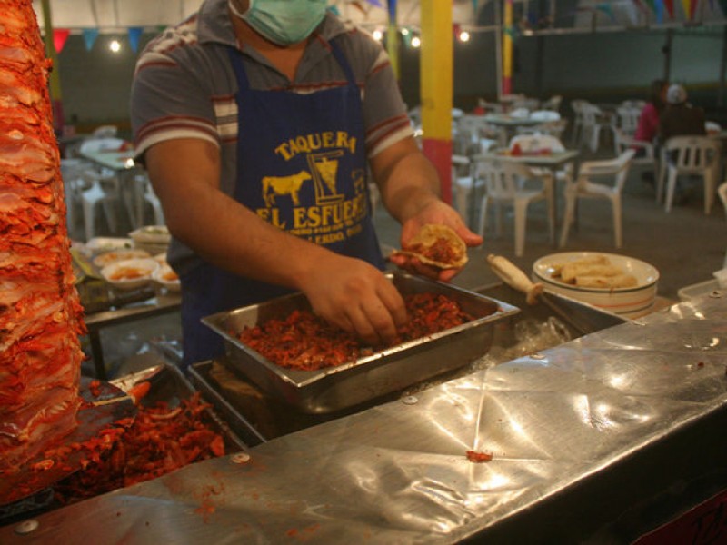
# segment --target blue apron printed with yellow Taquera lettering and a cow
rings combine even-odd
[[[250,88],[243,56],[230,49],[237,78],[237,179],[234,198],[287,233],[383,269],[366,180],[364,116],[354,73],[332,53],[344,87],[312,94]],[[220,236],[244,236],[224,233]],[[204,316],[290,292],[203,262],[182,276],[184,365],[224,352]]]

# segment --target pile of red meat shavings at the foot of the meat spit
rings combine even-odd
[[[106,432],[105,441],[84,445],[85,468],[55,486],[68,504],[150,481],[196,461],[224,456],[224,439],[204,423],[210,406],[199,392],[172,408],[164,401],[139,407],[134,421]],[[126,427],[127,426],[127,427]]]

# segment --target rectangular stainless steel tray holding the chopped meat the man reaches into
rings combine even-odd
[[[442,293],[459,302],[475,319],[452,329],[403,342],[381,352],[317,371],[286,369],[270,362],[237,338],[245,327],[254,327],[295,310],[310,309],[302,293],[218,312],[202,322],[224,339],[225,362],[262,391],[300,411],[325,413],[401,391],[412,384],[459,369],[482,357],[493,340],[493,325],[520,310],[479,293],[451,284],[433,282],[403,272],[387,277],[403,294]]]

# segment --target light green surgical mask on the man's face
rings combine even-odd
[[[327,0],[250,0],[244,13],[230,9],[254,30],[277,45],[302,42],[324,20]]]

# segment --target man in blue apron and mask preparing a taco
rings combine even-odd
[[[394,340],[406,312],[382,272],[369,171],[402,244],[426,223],[483,242],[441,200],[382,45],[326,0],[205,0],[145,48],[131,114],[173,234],[184,365],[223,352],[201,318],[290,291],[365,342]]]

